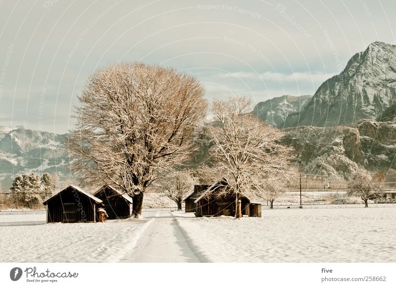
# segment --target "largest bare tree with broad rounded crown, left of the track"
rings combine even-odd
[[[201,84],[172,68],[121,63],[96,71],[79,96],[67,147],[86,183],[133,196],[140,217],[146,188],[187,159],[206,113]]]

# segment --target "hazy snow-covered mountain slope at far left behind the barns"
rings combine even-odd
[[[61,184],[70,174],[68,153],[62,146],[67,134],[0,126],[0,187],[7,191],[17,174],[56,173]]]

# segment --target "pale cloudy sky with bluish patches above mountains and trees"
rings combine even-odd
[[[394,0],[1,0],[0,126],[73,129],[87,78],[117,62],[172,66],[205,97],[313,95],[375,41]]]

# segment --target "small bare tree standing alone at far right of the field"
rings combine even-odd
[[[378,191],[373,185],[373,179],[371,175],[364,169],[358,169],[352,173],[349,179],[350,190],[348,196],[353,194],[360,195],[364,201],[364,207],[368,207],[368,200],[375,198],[378,195]]]

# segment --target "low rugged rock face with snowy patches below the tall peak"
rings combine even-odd
[[[348,178],[358,166],[369,171],[396,167],[396,122],[360,120],[350,126],[299,126],[285,129],[283,143],[301,152],[301,169],[327,174],[332,180]]]

